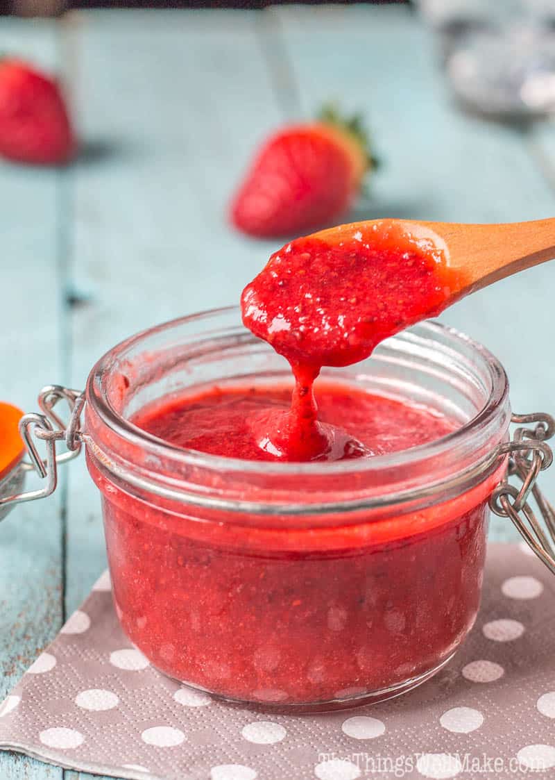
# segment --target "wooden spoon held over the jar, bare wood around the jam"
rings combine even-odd
[[[450,285],[453,299],[555,257],[555,218],[503,225],[381,219],[352,222],[314,235],[339,243],[357,234],[365,239],[375,236],[382,246],[384,237],[389,246],[408,241],[426,247],[431,242],[453,272],[451,280],[457,280]]]

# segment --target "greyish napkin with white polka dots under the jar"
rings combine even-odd
[[[471,636],[428,683],[382,704],[287,716],[179,686],[125,639],[108,574],[0,707],[0,747],[121,778],[553,777],[555,577],[491,544]]]

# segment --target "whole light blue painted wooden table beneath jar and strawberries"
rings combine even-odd
[[[57,69],[87,141],[65,171],[0,165],[0,397],[83,387],[137,330],[238,300],[275,243],[225,219],[256,144],[329,97],[366,113],[384,167],[356,217],[504,222],[555,214],[555,129],[454,107],[433,41],[401,7],[75,13],[0,20],[0,51]],[[503,361],[517,410],[555,410],[555,264],[472,296],[444,319]],[[546,474],[555,494],[555,473]],[[511,537],[501,519],[493,536]],[[0,526],[0,697],[104,567],[83,461]],[[0,753],[0,777],[76,780]],[[84,777],[84,775],[80,775]]]

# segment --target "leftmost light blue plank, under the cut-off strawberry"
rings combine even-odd
[[[48,23],[2,20],[0,50],[55,66]],[[0,398],[36,408],[42,384],[62,371],[63,174],[0,163]],[[0,699],[62,625],[60,496],[17,507],[0,523]],[[62,770],[0,752],[2,780],[60,780]]]

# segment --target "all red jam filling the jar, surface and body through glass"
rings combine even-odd
[[[320,419],[356,434],[369,458],[455,427],[425,407],[327,381],[316,397]],[[212,388],[147,406],[134,423],[177,447],[268,460],[251,421],[286,410],[289,398],[283,387]],[[474,622],[485,488],[397,525],[338,517],[327,529],[280,530],[279,518],[264,529],[248,517],[228,525],[227,512],[175,515],[107,489],[91,470],[119,619],[176,679],[266,705],[387,696],[446,661]]]

